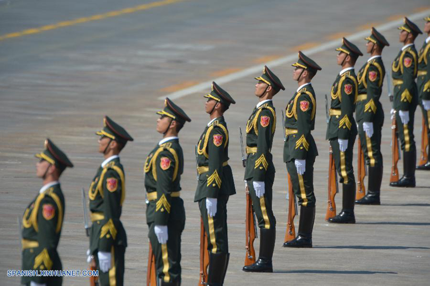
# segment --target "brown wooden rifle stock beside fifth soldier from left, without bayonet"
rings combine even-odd
[[[249,188],[245,188],[246,194],[246,218],[245,218],[245,266],[255,263],[255,249],[254,240],[256,237],[255,233],[255,221],[254,212],[252,210],[251,196],[249,195]]]

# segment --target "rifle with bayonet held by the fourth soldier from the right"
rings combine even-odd
[[[330,114],[328,108],[327,94],[325,95],[325,115],[327,124],[330,121]],[[337,185],[337,173],[334,165],[333,150],[328,149],[329,160],[328,160],[328,201],[327,201],[327,212],[325,214],[325,220],[336,216],[336,203],[334,202],[334,196],[339,193],[339,187]]]

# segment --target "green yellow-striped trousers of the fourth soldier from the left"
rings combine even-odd
[[[211,253],[229,253],[227,235],[227,202],[228,195],[220,195],[217,199],[217,213],[209,217],[206,209],[206,199],[200,200],[199,209],[203,218],[204,231],[207,237],[207,250]]]

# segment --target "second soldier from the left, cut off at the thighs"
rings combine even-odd
[[[99,153],[105,161],[91,182],[91,221],[89,255],[99,270],[101,285],[123,285],[124,255],[127,247],[125,229],[119,220],[125,199],[125,175],[119,162],[119,153],[132,136],[108,116],[104,117],[100,135]]]

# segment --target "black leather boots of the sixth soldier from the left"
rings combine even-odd
[[[284,243],[283,247],[312,248],[312,229],[314,228],[315,206],[300,206],[300,220],[297,237]]]

